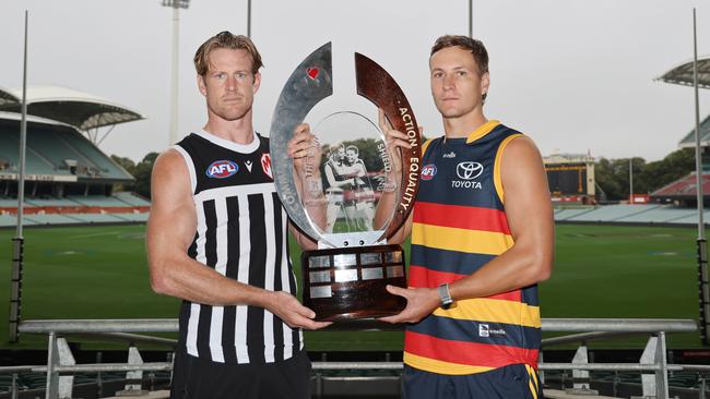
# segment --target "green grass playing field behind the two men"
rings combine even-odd
[[[693,228],[557,226],[553,277],[541,285],[543,317],[697,318]],[[11,238],[0,230],[0,346],[44,348],[46,337],[8,343]],[[298,250],[292,246],[294,263]],[[25,229],[23,319],[176,317],[179,302],[150,289],[144,226]],[[308,332],[310,350],[400,350],[402,332]],[[615,340],[604,347],[638,346]],[[672,348],[700,346],[697,334]],[[102,347],[105,343],[87,343]],[[599,343],[596,346],[600,346]]]

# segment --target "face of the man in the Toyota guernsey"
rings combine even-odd
[[[443,118],[461,118],[483,106],[488,73],[478,73],[471,51],[443,48],[429,59],[429,70],[434,104]]]

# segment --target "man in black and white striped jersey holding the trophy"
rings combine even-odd
[[[147,226],[151,286],[182,299],[170,397],[308,398],[301,329],[328,323],[295,298],[269,138],[251,121],[261,57],[249,38],[222,32],[194,65],[208,122],[156,159]],[[294,132],[297,168],[319,152],[313,140],[308,125]]]

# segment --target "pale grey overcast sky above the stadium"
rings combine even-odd
[[[656,160],[695,126],[693,88],[653,78],[710,53],[710,1],[474,0],[474,37],[490,56],[489,119],[529,134],[543,155],[587,153]],[[24,10],[29,11],[29,85],[91,93],[147,117],[116,126],[108,154],[140,160],[168,145],[173,10],[158,0],[2,0],[0,86],[22,86]],[[468,34],[466,0],[253,0],[252,39],[265,68],[255,128],[268,134],[294,68],[333,43],[336,95],[307,119],[336,110],[375,118],[355,94],[353,52],[377,61],[405,92],[427,136],[441,134],[429,92],[428,51],[443,34]],[[179,129],[205,120],[192,56],[213,34],[246,34],[247,0],[192,0],[180,12]],[[710,90],[700,96],[701,119]]]

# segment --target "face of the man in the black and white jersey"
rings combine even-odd
[[[251,56],[241,49],[220,48],[210,51],[209,60],[208,72],[198,76],[208,109],[227,121],[244,118],[251,111],[253,95],[261,83],[261,74],[251,73]]]

